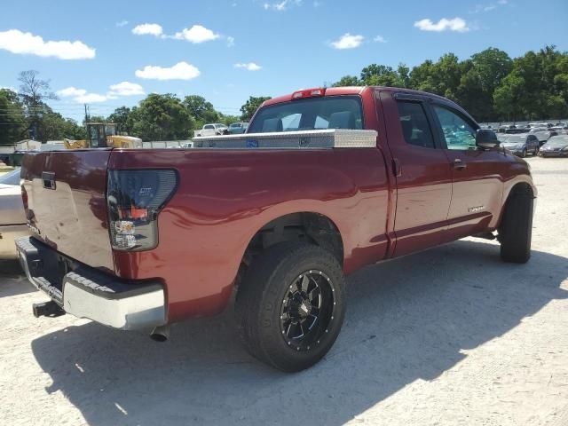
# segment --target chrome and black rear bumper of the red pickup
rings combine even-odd
[[[123,330],[166,323],[160,283],[118,279],[63,256],[32,237],[18,238],[15,244],[28,280],[65,312]]]

